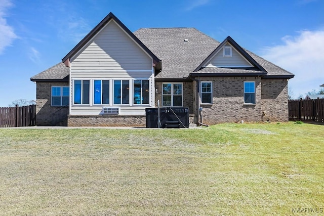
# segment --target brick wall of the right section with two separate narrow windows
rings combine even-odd
[[[261,120],[261,78],[258,77],[204,77],[213,81],[213,104],[203,105],[202,123],[256,122]],[[244,81],[256,83],[256,105],[244,104]]]

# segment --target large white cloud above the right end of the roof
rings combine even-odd
[[[324,30],[304,30],[281,40],[284,45],[265,48],[262,57],[295,74],[289,80],[295,98],[319,90],[324,83]]]

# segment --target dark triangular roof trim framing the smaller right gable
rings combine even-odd
[[[254,60],[244,49],[242,49],[230,36],[227,36],[223,42],[203,61],[201,64],[194,70],[194,72],[208,67],[210,62],[213,60],[214,57],[220,52],[223,51],[225,46],[230,45],[231,48],[234,48],[234,51],[239,54],[242,58],[240,60],[245,60],[248,64],[247,65],[235,65],[235,64],[228,64],[228,65],[219,65],[219,67],[228,67],[228,68],[236,68],[236,67],[255,67],[259,71],[266,72],[266,70],[256,61]],[[225,57],[226,58],[226,57]],[[217,66],[217,65],[215,65]]]

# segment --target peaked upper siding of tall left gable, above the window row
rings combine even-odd
[[[89,69],[151,70],[152,59],[111,20],[71,59],[71,75]]]

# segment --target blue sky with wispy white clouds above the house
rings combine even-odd
[[[57,64],[109,12],[131,31],[194,27],[294,73],[293,97],[324,83],[323,0],[0,0],[0,107],[34,100],[30,77]]]

